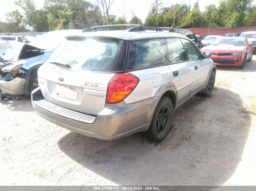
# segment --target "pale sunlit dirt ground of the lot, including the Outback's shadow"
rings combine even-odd
[[[210,97],[174,113],[161,143],[102,141],[38,116],[30,97],[0,101],[0,185],[256,185],[256,56],[218,67]]]

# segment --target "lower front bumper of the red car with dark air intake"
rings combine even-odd
[[[242,56],[217,56],[212,55],[211,59],[215,65],[221,66],[241,66],[243,63]]]

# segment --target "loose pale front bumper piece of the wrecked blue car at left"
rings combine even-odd
[[[0,89],[9,95],[23,95],[25,94],[25,81],[26,80],[22,78],[14,78],[12,81],[0,80]]]

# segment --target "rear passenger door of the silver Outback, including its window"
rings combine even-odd
[[[194,63],[188,60],[188,56],[179,38],[167,38],[166,42],[169,54],[168,66],[171,71],[171,82],[177,90],[178,106],[184,102],[190,94]]]

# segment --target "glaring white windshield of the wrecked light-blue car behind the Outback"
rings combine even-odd
[[[51,31],[51,32],[42,34],[41,36],[39,36],[29,44],[40,49],[53,50],[53,49],[56,49],[62,43],[62,41],[65,40],[65,36],[69,36],[79,31],[81,30]]]

